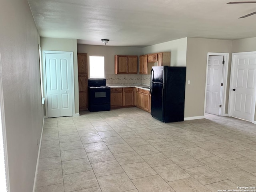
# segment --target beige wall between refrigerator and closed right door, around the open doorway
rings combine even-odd
[[[204,115],[207,53],[231,53],[231,48],[232,41],[230,40],[188,38],[186,81],[190,80],[190,85],[186,83],[185,117]],[[231,54],[228,68],[226,110],[228,105],[230,63]]]

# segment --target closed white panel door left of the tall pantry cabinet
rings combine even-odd
[[[71,54],[46,53],[48,117],[73,116]]]

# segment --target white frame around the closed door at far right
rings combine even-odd
[[[233,92],[232,92],[232,86],[234,85],[234,70],[235,70],[235,59],[236,56],[240,55],[253,55],[256,54],[256,51],[250,51],[250,52],[238,52],[238,53],[232,53],[232,61],[231,61],[231,73],[230,73],[230,87],[229,87],[229,101],[228,101],[228,116],[232,116],[232,109],[233,109]],[[255,89],[256,90],[256,89]],[[252,120],[250,122],[256,124],[256,121],[254,121],[254,116],[255,116],[255,107],[256,107],[256,92],[254,92],[254,101],[253,101],[253,115],[252,115]],[[246,120],[245,120],[246,121]]]

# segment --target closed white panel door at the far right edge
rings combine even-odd
[[[232,116],[252,121],[255,106],[256,54],[234,56]]]

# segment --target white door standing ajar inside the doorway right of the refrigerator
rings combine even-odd
[[[205,112],[220,115],[223,56],[209,56]]]

